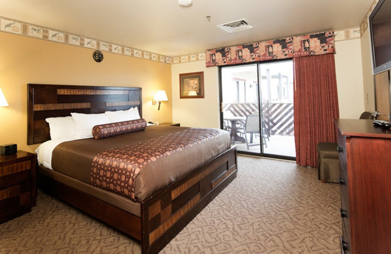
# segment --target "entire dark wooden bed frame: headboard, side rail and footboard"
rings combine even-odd
[[[28,84],[28,144],[50,139],[47,117],[139,108],[141,88]],[[38,168],[43,168],[38,166]],[[112,206],[38,170],[45,192],[141,241],[142,254],[159,253],[237,175],[232,147],[140,203],[141,216]]]

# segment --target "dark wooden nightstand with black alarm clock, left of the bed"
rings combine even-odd
[[[37,200],[36,154],[0,156],[0,223],[31,211]]]

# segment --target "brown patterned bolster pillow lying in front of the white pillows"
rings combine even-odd
[[[145,119],[96,125],[92,128],[92,136],[94,139],[108,138],[133,131],[143,130],[145,127],[147,127],[147,121],[145,121]]]

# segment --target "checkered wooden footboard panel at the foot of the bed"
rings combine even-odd
[[[142,203],[142,253],[166,246],[237,173],[237,150],[231,148]]]

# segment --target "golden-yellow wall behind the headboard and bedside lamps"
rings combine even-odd
[[[92,59],[93,49],[0,32],[0,88],[9,106],[0,107],[0,144],[27,146],[27,84],[106,85],[142,87],[143,118],[171,122],[171,65],[104,52]],[[165,89],[169,101],[160,111],[151,100]]]

